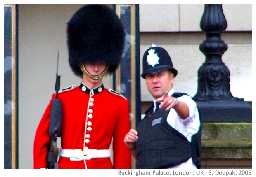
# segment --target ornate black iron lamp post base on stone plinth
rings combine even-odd
[[[233,97],[230,92],[230,72],[222,55],[228,49],[221,40],[221,33],[227,28],[222,5],[204,6],[200,28],[206,39],[199,49],[205,55],[205,62],[198,70],[197,102],[202,121],[209,122],[251,122],[251,107],[243,98]]]

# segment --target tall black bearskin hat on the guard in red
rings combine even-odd
[[[69,65],[82,77],[84,63],[104,61],[108,73],[118,67],[123,54],[125,31],[116,13],[106,5],[85,5],[67,23]]]

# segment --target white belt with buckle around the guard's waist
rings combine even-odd
[[[110,157],[111,153],[109,149],[60,149],[59,156],[68,157],[71,161],[82,161]]]

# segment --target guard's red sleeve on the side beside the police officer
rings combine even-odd
[[[121,108],[121,115],[116,124],[113,136],[114,168],[131,168],[131,154],[123,142],[123,138],[130,130],[129,102],[126,100]]]

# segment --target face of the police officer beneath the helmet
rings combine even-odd
[[[154,99],[160,98],[166,91],[173,88],[174,75],[164,70],[152,75],[146,75],[146,85]]]

